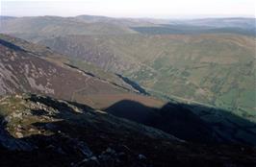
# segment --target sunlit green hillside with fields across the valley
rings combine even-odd
[[[255,121],[253,36],[59,36],[39,43],[122,74],[156,96]]]

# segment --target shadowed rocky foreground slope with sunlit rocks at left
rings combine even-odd
[[[77,103],[34,94],[6,96],[0,102],[0,166],[253,166],[256,163],[252,147],[192,144]]]

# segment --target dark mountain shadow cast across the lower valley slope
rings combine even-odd
[[[123,100],[106,111],[187,141],[256,145],[256,125],[223,109],[170,102],[154,108]]]

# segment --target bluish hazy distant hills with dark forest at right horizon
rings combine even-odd
[[[146,35],[239,34],[256,36],[255,18],[203,18],[169,20],[159,26],[132,27]]]

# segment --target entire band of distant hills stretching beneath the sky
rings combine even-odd
[[[255,18],[177,20],[113,18],[96,15],[2,17],[0,33],[22,37],[31,41],[66,35],[94,36],[139,33],[146,35],[200,35],[214,33],[256,35]]]

